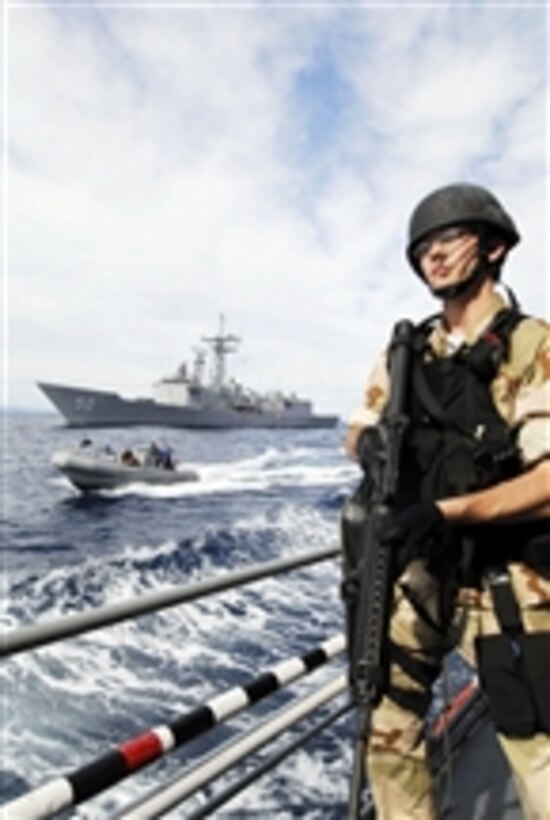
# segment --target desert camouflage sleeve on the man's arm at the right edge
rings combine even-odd
[[[514,424],[523,463],[531,466],[550,457],[550,325],[523,324],[520,346],[529,346],[532,354],[516,394]]]

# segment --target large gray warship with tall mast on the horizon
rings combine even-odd
[[[172,376],[153,385],[152,398],[125,398],[108,390],[38,382],[70,427],[154,425],[203,429],[334,427],[338,416],[316,415],[310,401],[280,391],[257,393],[226,377],[226,361],[241,339],[225,333],[203,337],[189,368],[183,363]],[[210,378],[205,378],[208,353]]]

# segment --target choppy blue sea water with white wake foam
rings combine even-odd
[[[82,496],[51,455],[85,432],[115,449],[163,441],[201,481]],[[0,620],[8,629],[334,545],[358,479],[341,429],[75,431],[54,415],[11,414],[4,443]],[[341,633],[339,582],[339,561],[326,561],[4,661],[1,801]],[[343,664],[292,694],[317,688]],[[280,707],[289,697],[272,700]],[[68,816],[112,817],[215,740],[253,728],[272,706],[258,704]],[[345,816],[351,733],[346,717],[216,817]],[[202,799],[167,816],[185,817]]]

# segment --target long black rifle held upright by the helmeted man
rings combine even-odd
[[[398,322],[389,348],[390,393],[382,418],[363,434],[368,452],[369,500],[362,522],[361,560],[355,625],[352,633],[350,682],[357,710],[348,820],[361,817],[365,781],[365,750],[374,707],[387,690],[389,676],[388,626],[393,589],[393,555],[379,540],[380,521],[388,515],[399,486],[399,468],[409,363],[414,325]],[[370,436],[369,436],[370,434]],[[365,459],[361,459],[365,462]]]

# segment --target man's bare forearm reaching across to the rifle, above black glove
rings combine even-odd
[[[487,490],[445,498],[437,506],[451,524],[550,518],[550,458]]]

